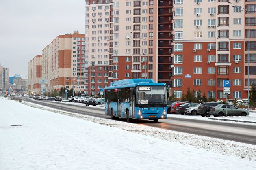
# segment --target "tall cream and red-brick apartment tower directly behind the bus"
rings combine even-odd
[[[129,78],[171,84],[171,0],[85,0],[85,4],[89,91]],[[103,81],[103,86],[98,84]]]

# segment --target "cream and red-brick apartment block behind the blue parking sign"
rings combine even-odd
[[[172,90],[176,97],[190,87],[208,98],[226,98],[223,80],[229,79],[229,98],[247,98],[244,17],[248,14],[241,10],[244,1],[233,2],[234,7],[228,0],[175,0]]]

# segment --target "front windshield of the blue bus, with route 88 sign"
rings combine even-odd
[[[165,86],[138,86],[136,104],[166,104]]]

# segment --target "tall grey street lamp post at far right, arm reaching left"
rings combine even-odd
[[[232,4],[231,2],[228,1],[228,3]],[[234,5],[234,6],[233,6]],[[237,6],[236,4],[232,4],[231,5],[232,7],[234,8],[242,8],[241,6]],[[243,10],[242,10],[243,9]],[[251,25],[251,20],[250,20],[250,13],[251,13],[251,10],[247,10],[245,8],[242,8],[240,9],[241,11],[244,11],[245,13],[248,13],[248,57],[247,57],[247,60],[248,60],[248,81],[247,81],[247,90],[248,90],[248,112],[250,111],[250,25]],[[245,35],[246,36],[246,35]]]

